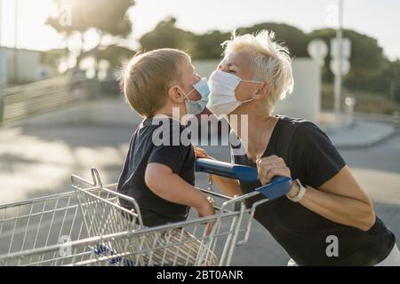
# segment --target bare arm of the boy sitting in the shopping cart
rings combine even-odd
[[[162,163],[148,163],[145,182],[153,193],[164,200],[196,208],[200,217],[214,214],[212,204],[202,192]]]

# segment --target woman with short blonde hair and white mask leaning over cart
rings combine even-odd
[[[399,265],[394,234],[375,216],[330,139],[312,122],[271,115],[293,86],[288,51],[273,40],[273,33],[262,31],[223,44],[207,107],[226,116],[241,142],[232,147],[232,162],[257,167],[260,182],[217,176],[214,182],[233,196],[275,176],[292,178],[286,196],[263,203],[255,214],[292,257],[289,265]],[[200,148],[196,155],[208,157]]]

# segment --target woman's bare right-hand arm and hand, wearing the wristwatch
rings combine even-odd
[[[257,167],[263,185],[275,176],[291,177],[291,172],[284,160],[276,156],[260,159]],[[321,185],[319,190],[310,186],[307,189],[300,204],[316,214],[363,231],[368,231],[374,224],[375,213],[372,201],[357,184],[347,166]],[[294,197],[298,193],[299,188],[293,183],[292,190],[287,196]]]

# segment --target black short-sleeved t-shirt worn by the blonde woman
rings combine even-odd
[[[273,154],[282,157],[293,180],[300,178],[302,185],[317,189],[346,165],[331,140],[316,124],[277,117],[278,122],[263,157]],[[232,154],[232,160],[255,167],[245,154]],[[240,185],[243,193],[250,193],[260,186],[260,182],[241,182]],[[259,199],[252,199],[247,205],[251,206]],[[379,217],[372,228],[364,232],[332,222],[286,196],[260,205],[255,219],[299,265],[373,265],[388,256],[396,241]],[[332,244],[328,238],[331,235],[337,237],[339,256],[328,257],[326,254],[326,249]]]

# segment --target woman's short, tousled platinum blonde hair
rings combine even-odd
[[[230,52],[248,52],[251,56],[252,80],[269,83],[270,95],[266,98],[268,110],[273,110],[277,99],[284,99],[292,93],[292,60],[283,45],[274,42],[274,32],[262,30],[255,35],[236,36],[222,43],[224,55]]]

